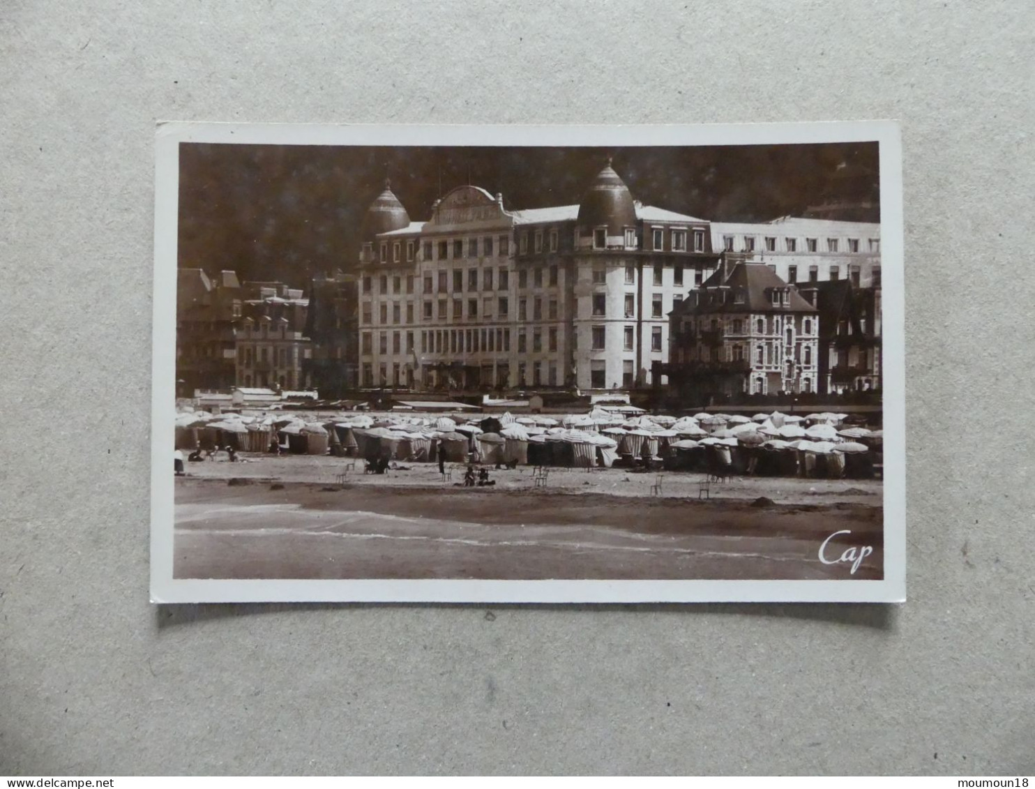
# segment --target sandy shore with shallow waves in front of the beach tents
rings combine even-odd
[[[225,456],[223,456],[225,457]],[[875,480],[530,468],[497,485],[433,464],[366,475],[324,456],[188,464],[176,485],[178,578],[856,579],[882,577]],[[349,468],[347,468],[349,466]],[[345,474],[345,477],[339,476]],[[765,497],[771,501],[759,502]],[[852,574],[827,558],[871,546]]]

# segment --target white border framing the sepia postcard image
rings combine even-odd
[[[884,394],[880,581],[199,580],[173,578],[179,144],[707,146],[878,142]],[[708,125],[159,123],[155,146],[151,396],[152,603],[899,603],[906,600],[906,366],[901,138],[893,121]]]

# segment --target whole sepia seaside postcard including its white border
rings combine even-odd
[[[151,597],[899,602],[892,122],[159,124]]]

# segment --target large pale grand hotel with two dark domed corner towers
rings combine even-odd
[[[669,314],[732,257],[791,283],[879,283],[878,225],[710,223],[642,205],[610,162],[578,205],[508,210],[467,185],[426,222],[386,182],[362,239],[364,388],[649,385],[668,360]]]

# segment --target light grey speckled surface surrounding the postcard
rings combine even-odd
[[[1028,0],[7,0],[0,772],[1035,771],[1032,51]],[[857,118],[904,133],[905,606],[148,604],[157,119]]]

